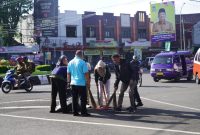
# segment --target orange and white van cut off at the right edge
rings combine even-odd
[[[200,84],[200,48],[194,56],[193,75],[196,83]]]

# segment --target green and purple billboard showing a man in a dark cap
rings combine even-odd
[[[174,1],[155,3],[151,9],[151,41],[165,42],[176,40]]]

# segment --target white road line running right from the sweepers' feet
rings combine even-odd
[[[200,109],[198,108],[193,108],[193,107],[187,107],[187,106],[182,106],[182,105],[177,105],[177,104],[172,104],[172,103],[167,103],[167,102],[163,102],[163,101],[159,101],[159,100],[153,100],[153,99],[149,99],[149,98],[145,98],[145,97],[141,97],[144,100],[148,100],[148,101],[152,101],[152,102],[156,102],[156,103],[160,103],[160,104],[165,104],[165,105],[170,105],[170,106],[176,106],[176,107],[180,107],[180,108],[184,108],[184,109],[190,109],[190,110],[195,110],[195,111],[199,111]]]

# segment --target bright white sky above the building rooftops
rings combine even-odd
[[[163,2],[167,1],[169,0],[163,0]],[[200,13],[200,0],[174,1],[176,14]],[[162,0],[59,0],[59,10],[60,12],[75,10],[78,14],[83,14],[84,11],[93,11],[98,15],[109,12],[116,16],[119,16],[120,13],[134,16],[137,11],[146,11],[147,14],[150,14],[150,3],[160,2]]]

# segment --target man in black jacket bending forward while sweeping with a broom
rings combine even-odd
[[[123,98],[124,98],[124,92],[127,90],[128,86],[130,87],[129,90],[129,98],[130,98],[130,103],[131,103],[131,112],[135,112],[136,107],[135,107],[135,98],[134,98],[134,88],[136,86],[136,81],[132,80],[131,75],[132,70],[130,63],[127,63],[125,60],[120,58],[119,54],[115,54],[112,56],[112,61],[115,64],[115,75],[116,75],[116,80],[114,83],[114,88],[118,89],[119,82],[121,81],[121,88],[120,88],[120,94],[119,94],[119,99],[118,99],[118,107],[116,108],[117,111],[121,111],[122,109],[122,103],[123,103]]]

